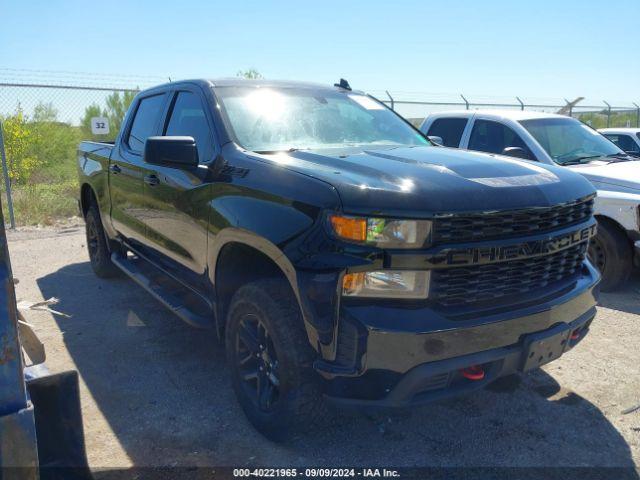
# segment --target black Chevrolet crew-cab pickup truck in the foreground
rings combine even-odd
[[[537,368],[595,315],[587,180],[434,146],[346,82],[155,87],[78,167],[95,273],[224,339],[271,438]]]

